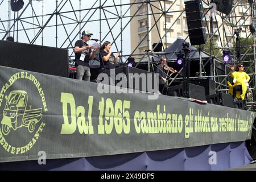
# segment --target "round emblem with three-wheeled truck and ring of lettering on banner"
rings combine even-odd
[[[14,155],[31,150],[46,126],[42,113],[47,111],[39,80],[27,72],[15,73],[0,92],[0,145]]]

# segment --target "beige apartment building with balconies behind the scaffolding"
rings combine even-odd
[[[130,2],[133,3],[134,0]],[[152,49],[152,44],[158,43],[161,39],[164,47],[168,47],[175,42],[177,36],[183,36],[184,39],[188,37],[184,0],[151,1],[150,4],[142,2],[145,0],[137,0],[130,10],[131,16],[134,15],[130,24],[133,54],[144,54],[144,50],[148,47]],[[204,1],[203,6],[205,11],[203,22],[209,39],[210,11]],[[250,5],[247,1],[242,1],[230,17],[228,23],[223,23],[219,15],[213,19],[213,40],[218,47],[233,47],[234,29],[240,26],[241,37],[250,34],[247,28],[251,22]],[[221,26],[222,24],[224,26]],[[189,41],[189,38],[187,40]]]

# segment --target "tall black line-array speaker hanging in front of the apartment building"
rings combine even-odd
[[[204,9],[201,0],[185,2],[188,35],[192,46],[206,43],[206,30],[203,23],[203,10]]]

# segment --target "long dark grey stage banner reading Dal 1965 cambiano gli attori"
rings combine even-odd
[[[0,162],[167,150],[251,137],[251,111],[129,92],[0,67]]]

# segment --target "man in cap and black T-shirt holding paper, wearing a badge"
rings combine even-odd
[[[89,60],[94,59],[95,52],[98,49],[96,48],[92,51],[92,46],[87,44],[92,35],[89,30],[85,30],[82,32],[81,40],[77,40],[75,43],[77,80],[90,81]]]

